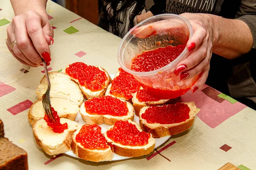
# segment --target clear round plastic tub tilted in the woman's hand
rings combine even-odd
[[[137,28],[142,27],[137,30],[145,31],[146,27],[156,28],[156,25],[158,27],[154,29],[155,34],[149,37],[139,38],[134,35],[134,30]],[[140,31],[136,31],[136,34]],[[122,39],[117,55],[118,62],[125,71],[132,74],[140,82],[151,96],[158,99],[174,99],[189,91],[198,79],[198,76],[195,76],[180,81],[179,75],[175,73],[177,64],[189,56],[187,48],[168,65],[154,71],[132,71],[132,59],[143,51],[168,45],[186,45],[192,34],[190,23],[179,15],[160,14],[150,17],[132,28]]]

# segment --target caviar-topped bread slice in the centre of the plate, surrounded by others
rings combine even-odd
[[[87,124],[113,125],[119,120],[134,119],[131,103],[112,96],[92,97],[80,107],[81,116]]]

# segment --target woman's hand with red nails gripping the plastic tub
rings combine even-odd
[[[177,73],[180,80],[194,77],[199,74],[198,81],[191,87],[192,92],[201,88],[208,77],[209,62],[212,57],[212,25],[209,22],[209,15],[184,13],[180,16],[186,18],[192,25],[193,35],[188,40],[186,47],[190,52],[189,57],[177,65]],[[139,38],[146,38],[153,34],[161,34],[169,28],[168,23],[151,24],[136,28],[131,34]],[[143,29],[143,31],[140,31]],[[157,30],[157,33],[156,31]]]

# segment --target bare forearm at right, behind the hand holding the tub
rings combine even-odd
[[[241,20],[206,14],[212,25],[212,52],[227,59],[248,53],[253,46],[250,28]]]

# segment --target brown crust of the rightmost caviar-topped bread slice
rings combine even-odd
[[[175,124],[147,123],[145,119],[141,118],[141,115],[145,113],[145,110],[149,108],[149,106],[143,107],[140,110],[140,127],[142,128],[143,131],[147,133],[151,133],[154,138],[175,135],[188,130],[189,127],[193,125],[195,115],[196,115],[196,106],[194,102],[186,102],[185,104],[187,104],[190,108],[189,119],[187,119],[184,122],[175,123]]]

